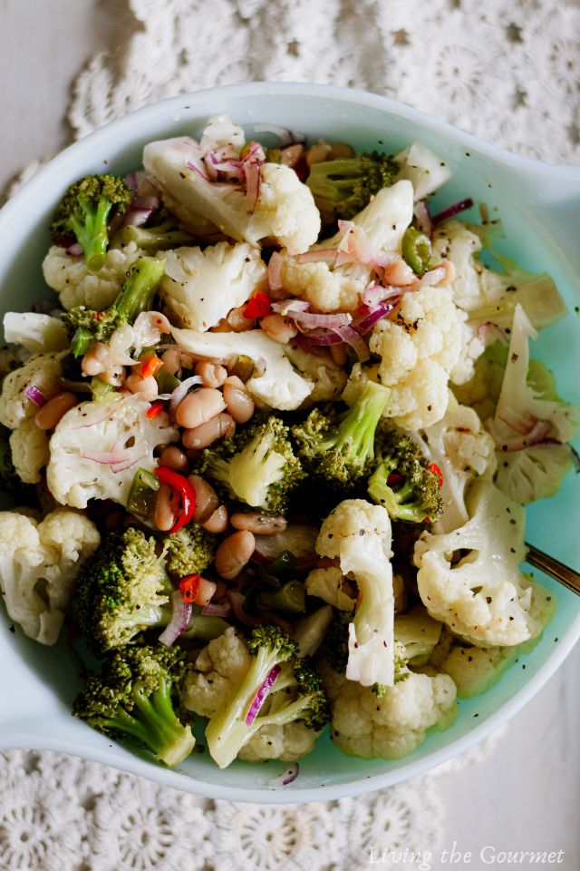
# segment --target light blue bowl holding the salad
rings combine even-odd
[[[176,97],[112,122],[56,157],[0,212],[0,282],[3,310],[24,310],[43,295],[41,263],[49,245],[53,207],[85,173],[127,172],[140,165],[146,142],[180,133],[197,135],[208,115],[227,113],[252,133],[253,124],[279,124],[311,138],[350,142],[355,148],[396,151],[419,140],[440,153],[453,179],[436,208],[470,196],[487,203],[506,230],[500,248],[527,269],[556,279],[571,314],[541,334],[534,354],[556,372],[562,394],[580,400],[580,169],[525,160],[468,133],[384,97],[308,84],[242,84]],[[262,140],[267,137],[260,134]],[[271,138],[272,144],[275,137]],[[554,499],[528,512],[527,537],[537,547],[580,567],[580,489],[568,475]],[[536,573],[538,574],[538,573]],[[343,756],[327,737],[284,789],[267,782],[283,763],[236,762],[225,771],[195,754],[178,770],[160,768],[71,716],[78,663],[65,641],[44,648],[24,638],[0,613],[0,748],[52,749],[122,768],[162,784],[211,798],[260,802],[319,801],[355,795],[414,777],[485,738],[512,717],[554,673],[580,634],[580,600],[547,578],[558,600],[555,620],[536,649],[485,695],[459,703],[459,717],[434,732],[398,762]]]

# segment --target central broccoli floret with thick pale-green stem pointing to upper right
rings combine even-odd
[[[369,381],[347,412],[314,408],[304,423],[293,426],[307,471],[333,488],[355,486],[370,471],[374,433],[388,399],[388,387]]]

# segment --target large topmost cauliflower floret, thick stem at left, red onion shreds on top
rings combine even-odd
[[[160,185],[163,201],[178,219],[201,235],[216,230],[254,247],[273,238],[298,254],[316,240],[320,215],[310,190],[294,170],[278,163],[260,167],[254,207],[239,186],[204,178],[203,150],[187,137],[149,142],[143,166]]]

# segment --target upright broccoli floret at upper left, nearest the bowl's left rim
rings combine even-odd
[[[98,272],[109,247],[109,225],[131,202],[131,188],[118,175],[88,175],[75,181],[54,212],[53,237],[74,235],[90,272]]]

